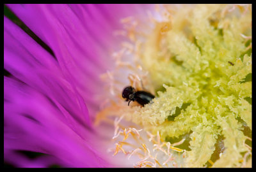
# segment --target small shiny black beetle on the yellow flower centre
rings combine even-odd
[[[154,95],[150,94],[149,92],[145,91],[136,91],[133,87],[125,87],[123,90],[122,96],[129,101],[128,106],[131,101],[137,101],[142,106],[149,103],[152,99],[154,99]]]

